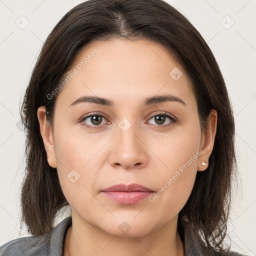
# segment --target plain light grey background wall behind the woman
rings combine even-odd
[[[80,2],[0,0],[0,245],[28,235],[18,229],[25,138],[17,123],[24,90],[42,42],[57,21]],[[235,191],[233,198],[228,235],[233,250],[256,255],[256,1],[167,2],[202,34],[224,76],[234,110],[236,155],[242,181],[242,190]],[[28,25],[22,27],[26,22]],[[65,212],[57,222],[68,214]],[[226,242],[229,244],[229,239]]]

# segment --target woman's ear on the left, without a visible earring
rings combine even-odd
[[[56,158],[55,158],[52,131],[51,131],[50,125],[46,121],[45,106],[39,106],[37,108],[37,118],[40,124],[40,133],[41,133],[44,148],[47,154],[47,161],[51,167],[56,168]]]

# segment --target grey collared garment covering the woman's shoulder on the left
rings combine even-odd
[[[71,217],[64,218],[51,231],[40,236],[13,239],[0,246],[0,256],[62,255],[65,233]]]

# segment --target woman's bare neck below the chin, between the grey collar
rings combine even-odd
[[[66,232],[63,256],[183,256],[184,247],[175,231],[176,225],[174,229],[171,226],[172,223],[168,223],[140,237],[120,237],[72,219],[72,225]]]

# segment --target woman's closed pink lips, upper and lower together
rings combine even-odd
[[[110,200],[121,204],[138,203],[154,193],[150,188],[136,183],[112,185],[101,192]]]

